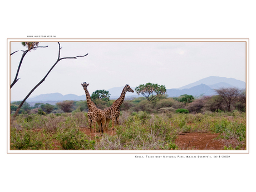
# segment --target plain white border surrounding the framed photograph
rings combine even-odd
[[[255,173],[253,1],[9,1],[1,6],[2,191],[252,191]],[[135,154],[7,154],[7,38],[249,38],[250,153],[230,159]]]

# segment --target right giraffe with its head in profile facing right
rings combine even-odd
[[[112,120],[111,135],[113,135],[115,121],[116,121],[116,124],[118,125],[118,120],[120,115],[119,108],[125,99],[125,93],[127,91],[134,92],[134,90],[132,90],[132,88],[129,85],[126,85],[122,90],[122,93],[119,99],[117,99],[110,107],[107,107],[106,109],[103,110],[105,112],[105,117],[106,117],[105,129],[107,129],[107,126],[109,125],[109,121]]]

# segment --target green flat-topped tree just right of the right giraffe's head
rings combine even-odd
[[[146,97],[147,101],[155,100],[156,97],[161,96],[166,93],[166,88],[164,85],[157,85],[154,83],[146,83],[146,85],[139,85],[135,88],[138,95],[143,95]],[[154,95],[153,93],[156,93]]]

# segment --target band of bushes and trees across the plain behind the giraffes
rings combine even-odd
[[[191,95],[181,95],[180,97],[168,97],[168,95],[161,95],[155,100],[148,101],[145,97],[137,97],[132,100],[124,100],[120,110],[126,112],[145,111],[147,113],[162,113],[174,112],[177,109],[186,109],[190,113],[205,113],[211,112],[232,112],[238,110],[240,112],[246,111],[246,95],[245,90],[238,90],[238,88],[220,88],[215,90],[218,95],[214,96],[200,96],[194,98]],[[93,102],[99,109],[105,109],[112,105],[115,100],[110,100],[109,97],[93,97]],[[11,114],[13,114],[21,101],[12,102]],[[62,101],[57,102],[56,105],[36,103],[31,107],[25,102],[19,113],[26,114],[60,114],[63,112],[80,112],[88,111],[86,101]]]

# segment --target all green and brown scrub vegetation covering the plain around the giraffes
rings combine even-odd
[[[182,97],[189,98],[186,95]],[[110,106],[114,101],[95,100],[101,108]],[[11,121],[11,150],[183,150],[185,147],[176,144],[176,139],[194,132],[219,134],[216,139],[226,150],[246,148],[243,94],[229,105],[219,95],[191,99],[185,106],[184,100],[166,95],[151,102],[145,97],[125,100],[120,107],[119,126],[115,126],[116,134],[113,136],[105,131],[102,136],[90,137],[86,132],[86,101],[60,103],[62,105],[37,103],[31,107],[25,102],[20,110],[23,112]],[[11,104],[11,113],[18,104]],[[68,110],[62,109],[65,105]],[[110,127],[111,122],[107,128],[110,130]],[[96,130],[99,131],[98,126]]]

